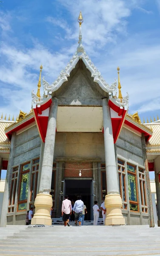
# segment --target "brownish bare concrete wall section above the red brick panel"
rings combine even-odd
[[[56,157],[100,157],[105,162],[103,133],[56,133]]]

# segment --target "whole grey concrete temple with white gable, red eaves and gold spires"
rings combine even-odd
[[[94,201],[100,206],[105,200],[106,225],[153,227],[146,145],[151,150],[154,130],[137,113],[128,114],[120,68],[118,84],[109,86],[103,79],[82,44],[81,12],[78,22],[78,47],[69,63],[52,84],[43,77],[43,93],[40,66],[30,113],[20,111],[5,128],[11,144],[1,226],[25,224],[31,206],[31,224],[51,225],[51,207],[52,217],[59,218],[67,194],[73,201],[82,196],[88,220]]]

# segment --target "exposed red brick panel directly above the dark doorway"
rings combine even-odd
[[[82,162],[68,162],[65,163],[65,178],[78,178],[80,170],[81,170],[81,178],[92,178],[93,177],[93,170],[92,163],[82,163]],[[84,170],[90,169],[90,170]]]

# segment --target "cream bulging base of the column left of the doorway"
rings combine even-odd
[[[37,194],[35,198],[35,213],[31,225],[51,225],[52,197],[49,194]]]

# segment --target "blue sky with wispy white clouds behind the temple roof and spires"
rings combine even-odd
[[[109,84],[120,66],[129,113],[160,116],[160,0],[4,0],[0,111],[30,111],[40,64],[46,81],[57,78],[77,49],[80,10],[86,52]]]

